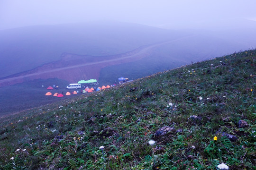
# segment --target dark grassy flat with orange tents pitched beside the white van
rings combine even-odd
[[[95,79],[93,81],[95,82]],[[118,81],[118,78],[117,78],[117,81]],[[111,85],[111,84],[110,85],[108,84],[92,85],[91,83],[93,82],[89,81],[89,82],[86,82],[85,84],[82,84],[85,86],[88,85],[88,88],[90,87],[89,93],[93,91],[99,91],[101,90],[101,88],[102,89],[109,88]],[[33,81],[29,81],[29,82],[25,82],[17,85],[1,87],[0,100],[4,102],[0,102],[0,117],[8,115],[10,113],[18,113],[21,110],[27,110],[37,106],[50,104],[52,102],[58,102],[61,100],[70,99],[73,97],[77,97],[81,94],[87,93],[86,91],[87,89],[81,88],[81,89],[78,89],[77,94],[74,94],[74,89],[70,89],[70,90],[66,89],[66,86],[69,84],[70,84],[69,82],[59,80],[59,79],[46,79],[46,80],[39,79],[39,80],[33,80]],[[44,87],[42,87],[42,85]],[[53,88],[53,85],[58,85],[59,87]],[[98,87],[101,87],[101,88],[98,88]],[[81,90],[84,90],[84,92],[81,92]],[[49,94],[48,92],[51,94]],[[66,95],[67,92],[70,93],[70,95]],[[49,95],[46,95],[46,93],[48,93]],[[57,97],[56,93],[62,94],[63,97]]]

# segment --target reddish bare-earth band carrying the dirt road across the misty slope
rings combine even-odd
[[[186,40],[189,37],[145,45],[133,51],[118,55],[95,57],[63,53],[61,60],[0,79],[0,86],[47,78],[59,78],[69,82],[78,82],[82,79],[99,79],[101,68],[147,58],[155,48],[184,39]]]

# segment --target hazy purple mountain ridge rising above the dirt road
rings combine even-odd
[[[1,30],[0,77],[56,61],[64,52],[91,56],[120,54],[181,35],[184,33],[117,22],[27,26]]]

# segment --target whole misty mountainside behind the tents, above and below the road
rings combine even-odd
[[[191,36],[187,39],[183,37]],[[256,30],[166,30],[119,22],[91,22],[55,26],[28,26],[0,31],[1,85],[11,85],[38,78],[60,78],[71,82],[96,78],[116,81],[127,75],[147,76],[177,66],[256,47]],[[178,40],[180,41],[174,41]],[[158,46],[145,55],[120,62],[82,67],[91,60],[101,62],[112,56],[137,51],[147,45],[174,41]],[[72,54],[72,55],[71,55]],[[73,59],[63,62],[64,55]],[[89,58],[88,58],[89,57]],[[96,63],[97,63],[96,62]],[[175,63],[174,63],[175,62]],[[62,65],[62,64],[63,65]],[[79,63],[81,67],[76,67]],[[154,67],[147,67],[154,65]],[[64,71],[65,68],[68,70]],[[133,68],[133,69],[128,69]],[[140,69],[141,68],[141,69]],[[144,68],[144,69],[142,69]],[[161,69],[159,69],[161,68]],[[52,71],[50,70],[52,69]],[[59,71],[56,71],[59,70]],[[126,70],[126,71],[124,71]],[[137,70],[137,74],[135,72]],[[47,72],[38,76],[38,72]],[[114,72],[114,74],[108,74]],[[37,74],[36,76],[26,76]],[[136,75],[136,76],[133,76]],[[25,76],[23,79],[13,77]],[[11,78],[11,82],[9,81]]]

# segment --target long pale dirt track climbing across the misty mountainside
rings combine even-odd
[[[168,43],[178,42],[180,40],[183,40],[183,39],[186,39],[186,38],[189,38],[189,37],[192,37],[192,36],[193,35],[185,36],[183,38],[175,39],[175,40],[172,40],[172,41],[159,42],[159,43],[151,44],[151,45],[148,45],[148,46],[146,46],[144,48],[141,48],[135,54],[129,54],[129,52],[127,52],[125,54],[126,56],[120,57],[120,58],[116,58],[116,59],[101,60],[101,61],[96,61],[96,62],[89,62],[89,63],[78,64],[78,65],[74,65],[74,66],[63,67],[63,68],[55,68],[55,69],[41,71],[41,72],[36,72],[36,73],[31,73],[31,74],[27,74],[27,75],[23,75],[23,76],[14,76],[14,77],[10,77],[10,78],[6,78],[6,79],[0,80],[0,84],[4,83],[4,82],[9,82],[9,81],[21,79],[21,78],[26,78],[26,77],[30,77],[30,76],[38,76],[38,75],[41,75],[41,74],[51,73],[51,72],[65,70],[65,69],[70,69],[70,68],[79,68],[79,67],[83,67],[83,66],[90,66],[90,65],[95,65],[95,64],[101,64],[101,63],[106,63],[106,62],[112,62],[112,61],[118,61],[118,60],[122,60],[122,59],[133,58],[133,57],[137,57],[137,56],[143,55],[147,51],[150,51],[150,50],[152,50],[155,47],[158,47],[158,46],[161,46],[161,45],[165,45],[165,44],[168,44]]]

